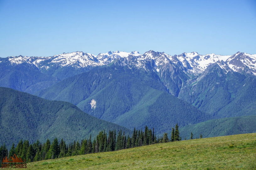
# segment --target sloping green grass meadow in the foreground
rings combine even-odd
[[[26,169],[256,169],[256,133],[160,143],[28,163]]]

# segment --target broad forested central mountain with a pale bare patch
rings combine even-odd
[[[127,128],[154,127],[159,134],[176,123],[208,120],[207,115],[169,94],[154,71],[130,66],[93,68],[38,95],[71,102],[92,116]]]

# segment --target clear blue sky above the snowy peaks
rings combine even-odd
[[[0,57],[256,53],[255,0],[0,0]]]

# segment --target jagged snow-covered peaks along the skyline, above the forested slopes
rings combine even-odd
[[[227,56],[216,54],[200,55],[196,52],[182,53],[172,56],[164,52],[155,52],[152,50],[145,52],[144,54],[140,54],[138,51],[133,51],[131,53],[109,51],[98,55],[77,51],[73,53],[63,53],[52,57],[27,57],[20,55],[17,57],[8,57],[6,59],[0,58],[0,62],[6,60],[6,62],[9,62],[12,65],[28,63],[35,65],[39,69],[69,66],[74,68],[92,68],[112,63],[115,60],[119,60],[116,64],[134,65],[138,68],[144,68],[145,62],[143,62],[143,60],[145,60],[148,62],[151,61],[153,68],[155,68],[157,72],[159,72],[161,67],[166,64],[174,64],[177,68],[190,75],[202,73],[211,63],[217,63],[221,68],[225,68],[226,71],[230,71],[231,69],[239,73],[243,72],[256,75],[256,54],[251,55],[240,52]]]

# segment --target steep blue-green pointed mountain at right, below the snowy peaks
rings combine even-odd
[[[214,118],[255,115],[255,82],[255,76],[226,72],[215,63],[188,83],[179,98]]]

